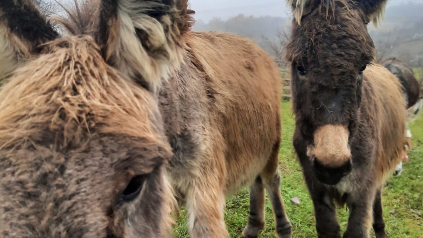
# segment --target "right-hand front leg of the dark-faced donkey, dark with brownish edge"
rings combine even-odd
[[[360,191],[348,202],[349,219],[343,238],[369,238],[376,189]]]

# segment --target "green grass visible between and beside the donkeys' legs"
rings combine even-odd
[[[301,167],[292,148],[294,117],[289,102],[282,103],[283,141],[280,150],[281,191],[287,214],[293,226],[293,237],[317,237],[313,204],[304,183]],[[412,210],[423,213],[423,115],[411,125],[414,147],[410,162],[404,164],[403,174],[389,179],[383,194],[384,218],[390,238],[423,238],[423,218]],[[293,197],[301,199],[300,205],[292,205]],[[231,238],[240,238],[247,223],[249,196],[247,189],[226,201],[225,222]],[[348,211],[338,209],[338,221],[345,230]],[[187,212],[182,209],[174,229],[176,238],[188,238]],[[272,207],[266,200],[266,227],[260,238],[275,237]]]

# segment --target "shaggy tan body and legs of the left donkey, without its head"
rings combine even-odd
[[[273,60],[234,35],[192,32],[185,40],[184,64],[159,100],[175,155],[170,181],[186,203],[191,236],[229,237],[225,195],[254,182],[243,235],[264,228],[266,188],[278,237],[291,237],[279,190],[281,79]]]

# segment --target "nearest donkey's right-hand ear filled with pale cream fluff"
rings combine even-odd
[[[108,64],[154,91],[182,62],[192,13],[187,0],[101,0],[96,41]]]

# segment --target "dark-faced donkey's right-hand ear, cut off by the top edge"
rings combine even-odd
[[[388,0],[352,0],[352,4],[359,6],[367,17],[377,26],[378,21],[383,17]]]

